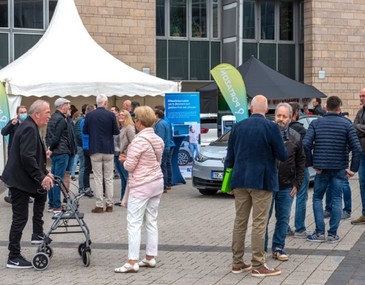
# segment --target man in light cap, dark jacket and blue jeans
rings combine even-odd
[[[64,179],[69,185],[70,171],[76,153],[75,133],[72,122],[70,123],[70,101],[58,98],[55,103],[56,111],[47,125],[46,144],[47,156],[51,157],[51,172]],[[48,211],[61,211],[61,190],[55,185],[48,192]]]

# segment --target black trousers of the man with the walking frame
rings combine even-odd
[[[33,233],[43,233],[43,211],[47,200],[47,192],[39,190],[35,194],[21,191],[17,188],[9,188],[11,197],[11,206],[13,210],[13,220],[9,234],[9,257],[17,257],[20,255],[20,240],[23,230],[28,222],[29,215],[29,197],[34,198],[33,203]],[[30,237],[29,237],[30,238]]]

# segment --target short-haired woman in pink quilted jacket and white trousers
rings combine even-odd
[[[155,267],[158,250],[157,214],[164,187],[160,167],[164,143],[152,128],[156,120],[152,108],[138,107],[134,114],[138,134],[128,146],[127,154],[119,156],[128,171],[128,262],[115,268],[116,273]],[[143,221],[147,231],[146,257],[138,262]]]

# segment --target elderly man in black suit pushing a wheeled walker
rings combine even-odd
[[[53,187],[53,176],[46,169],[46,148],[39,129],[51,118],[49,103],[35,101],[29,116],[14,135],[9,160],[2,180],[12,193],[13,221],[9,234],[8,268],[32,268],[20,254],[20,240],[28,221],[29,196],[34,198],[32,243],[39,243],[43,236],[43,211],[47,191]]]

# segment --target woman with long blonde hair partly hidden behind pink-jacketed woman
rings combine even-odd
[[[121,126],[120,134],[119,134],[119,154],[125,154],[127,152],[127,148],[129,144],[134,139],[136,135],[136,129],[134,126],[134,122],[131,114],[127,110],[122,110],[118,115],[118,123]],[[119,159],[118,154],[118,159]],[[124,193],[127,187],[128,180],[128,172],[125,170],[123,163],[119,160],[115,162],[117,167],[120,180],[121,180],[121,191],[120,191],[120,201],[116,202],[114,205],[125,207],[126,205],[123,203]]]

